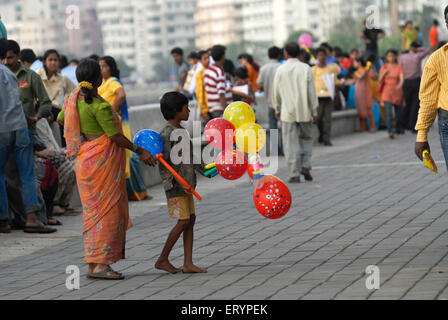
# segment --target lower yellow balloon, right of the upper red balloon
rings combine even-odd
[[[266,144],[266,132],[256,123],[243,124],[236,130],[236,145],[245,153],[257,153]]]

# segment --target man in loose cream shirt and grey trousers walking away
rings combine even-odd
[[[290,183],[299,183],[300,174],[312,181],[312,129],[317,123],[319,102],[310,66],[297,58],[300,47],[290,42],[284,49],[286,63],[275,74],[272,103],[282,123],[283,148],[289,166]]]

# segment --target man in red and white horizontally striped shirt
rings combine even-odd
[[[213,46],[211,64],[204,72],[205,92],[210,118],[220,118],[228,104],[232,103],[232,92],[227,85],[224,73],[224,62],[226,60],[226,48],[221,45]]]

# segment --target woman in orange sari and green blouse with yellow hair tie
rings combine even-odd
[[[83,207],[83,237],[88,278],[123,279],[110,265],[125,258],[126,230],[132,226],[126,196],[125,149],[154,166],[151,154],[132,144],[109,103],[98,95],[98,62],[84,59],[76,70],[79,90],[66,98],[58,122],[65,128],[67,156],[75,172]]]

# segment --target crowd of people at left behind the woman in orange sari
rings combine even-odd
[[[4,123],[0,131],[3,136],[0,145],[0,232],[10,232],[11,229],[27,233],[56,232],[54,226],[62,225],[57,216],[80,214],[70,205],[77,184],[75,158],[67,157],[63,121],[58,121],[59,114],[64,114],[66,98],[78,88],[74,73],[79,61],[68,62],[54,49],[38,58],[32,49],[21,50],[14,40],[1,41],[4,76],[8,85],[15,83],[17,88],[12,90],[2,86],[5,91],[1,102]],[[126,93],[115,59],[96,55],[89,58],[100,65],[99,95],[120,115],[123,132],[130,139]],[[9,99],[4,98],[8,95]],[[23,109],[26,128],[22,128],[24,123],[20,120],[22,115],[17,113],[17,104]],[[14,124],[20,132],[11,130]],[[93,123],[88,126],[92,127]],[[151,199],[141,175],[139,158],[131,151],[126,157],[128,199]]]

